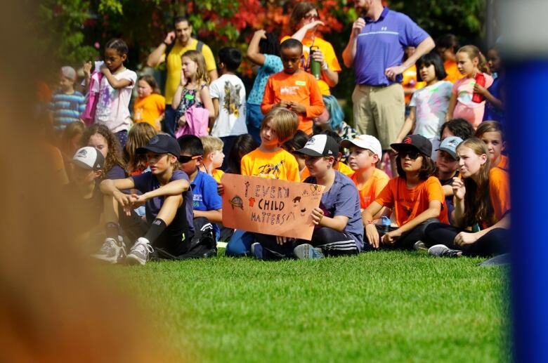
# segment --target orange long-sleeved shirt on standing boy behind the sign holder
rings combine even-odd
[[[298,70],[294,74],[278,72],[270,77],[264,88],[261,112],[266,114],[280,101],[294,101],[306,108],[306,115],[299,114],[299,130],[312,134],[312,119],[322,114],[325,106],[318,82],[312,74]]]

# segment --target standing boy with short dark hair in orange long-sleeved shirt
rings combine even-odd
[[[301,69],[303,45],[295,39],[287,39],[280,45],[284,70],[268,78],[261,103],[266,114],[275,107],[292,110],[299,115],[299,130],[312,133],[312,119],[324,110],[318,82],[312,74]]]

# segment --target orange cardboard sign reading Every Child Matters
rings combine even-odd
[[[224,173],[223,225],[264,235],[312,238],[323,185]]]

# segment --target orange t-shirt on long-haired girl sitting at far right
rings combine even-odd
[[[489,199],[493,209],[492,220],[481,220],[479,225],[485,230],[510,211],[510,183],[508,173],[498,167],[489,171]]]

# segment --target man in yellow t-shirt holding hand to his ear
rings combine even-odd
[[[173,32],[169,32],[159,46],[150,53],[147,58],[148,67],[156,67],[162,62],[166,62],[166,111],[162,131],[175,134],[175,110],[171,107],[173,96],[177,86],[181,82],[181,56],[186,51],[200,51],[206,61],[206,69],[209,73],[209,79],[213,81],[218,78],[215,57],[211,48],[192,37],[193,27],[187,18],[178,17],[174,20]]]

